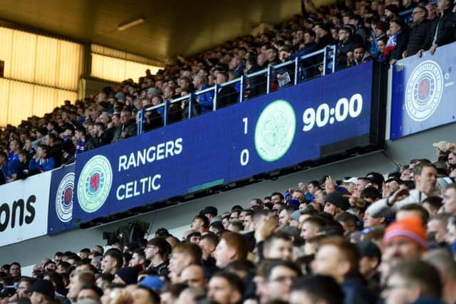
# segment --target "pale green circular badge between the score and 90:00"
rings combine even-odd
[[[286,100],[270,103],[255,127],[255,149],[261,159],[274,162],[289,150],[296,131],[296,115]]]

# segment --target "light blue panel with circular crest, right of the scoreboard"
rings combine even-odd
[[[390,139],[456,121],[456,43],[393,66]]]

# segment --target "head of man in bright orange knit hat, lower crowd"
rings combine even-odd
[[[427,250],[426,229],[423,220],[410,216],[390,224],[383,236],[385,251],[383,259],[398,263],[412,258],[421,258]]]

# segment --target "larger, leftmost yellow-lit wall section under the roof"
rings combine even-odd
[[[42,116],[77,98],[83,69],[79,43],[0,27],[0,61],[5,62],[0,126],[19,125],[31,115]],[[108,73],[112,70],[108,68]]]

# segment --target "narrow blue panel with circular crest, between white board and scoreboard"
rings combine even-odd
[[[49,193],[48,234],[76,228],[73,221],[74,169],[71,164],[52,171]]]

